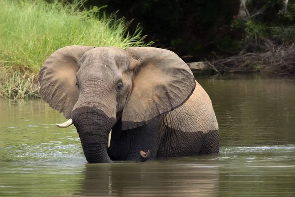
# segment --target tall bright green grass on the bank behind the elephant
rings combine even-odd
[[[0,0],[0,97],[36,98],[37,76],[44,61],[67,45],[146,46],[141,28],[127,32],[128,22],[72,4],[43,0]]]

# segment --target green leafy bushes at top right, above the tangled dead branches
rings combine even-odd
[[[294,3],[294,2],[293,2]],[[248,0],[247,17],[232,22],[234,30],[243,31],[243,45],[256,43],[265,50],[274,45],[292,45],[295,38],[295,4],[289,1],[285,9],[283,0]],[[266,41],[267,39],[267,41]]]

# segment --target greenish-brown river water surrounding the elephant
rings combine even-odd
[[[197,78],[220,155],[86,164],[74,126],[42,100],[0,100],[1,197],[294,197],[295,80]]]

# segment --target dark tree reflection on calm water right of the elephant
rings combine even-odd
[[[212,100],[222,144],[295,144],[294,79],[229,75],[198,81]]]

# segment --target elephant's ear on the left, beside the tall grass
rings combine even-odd
[[[66,46],[54,52],[44,63],[39,72],[40,94],[49,105],[63,112],[65,118],[78,100],[76,73],[79,60],[93,46]]]

